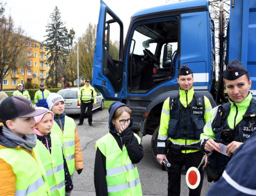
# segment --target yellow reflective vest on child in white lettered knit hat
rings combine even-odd
[[[67,161],[68,171],[72,175],[75,171],[75,121],[73,118],[65,116],[63,133],[59,125],[54,121],[51,134],[57,134],[62,141],[62,149]]]

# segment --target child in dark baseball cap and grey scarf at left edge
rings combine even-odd
[[[1,195],[47,195],[36,146],[35,119],[44,110],[35,110],[22,96],[10,96],[0,106],[0,119],[4,124],[0,133]],[[44,169],[43,169],[44,170]]]

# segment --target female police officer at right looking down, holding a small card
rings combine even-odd
[[[256,113],[256,101],[249,91],[252,81],[248,71],[234,59],[229,61],[223,77],[229,102],[213,108],[200,136],[202,149],[212,152],[209,166],[217,173],[215,178],[207,173],[210,181],[220,178],[233,153],[256,129],[256,119],[251,115]],[[219,153],[224,149],[220,143],[226,145],[228,155]]]

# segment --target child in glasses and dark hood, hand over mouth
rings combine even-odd
[[[143,157],[141,139],[130,128],[131,110],[113,102],[109,107],[109,133],[96,142],[94,186],[96,195],[142,195],[135,163]],[[124,169],[126,168],[126,169]]]

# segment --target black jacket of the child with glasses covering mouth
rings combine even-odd
[[[139,161],[143,158],[143,147],[142,144],[139,144],[138,139],[134,136],[133,132],[126,128],[120,136],[122,137],[122,141],[120,136],[117,133],[109,132],[114,136],[115,141],[117,141],[118,146],[122,150],[122,143],[125,145],[128,155],[131,159],[131,163],[139,163]],[[105,169],[105,156],[101,153],[101,150],[97,148],[96,157],[95,157],[95,165],[94,165],[94,186],[96,189],[97,196],[105,196],[107,194],[107,181],[105,179],[106,169]]]

